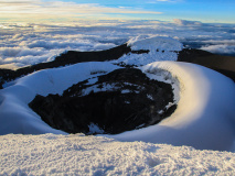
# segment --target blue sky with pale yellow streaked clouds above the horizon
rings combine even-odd
[[[234,0],[0,0],[0,22],[183,19],[235,23]]]

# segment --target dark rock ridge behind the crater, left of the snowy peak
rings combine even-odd
[[[19,68],[17,70],[11,69],[1,69],[0,68],[0,89],[6,81],[13,80],[15,78],[25,76],[35,70],[46,69],[46,68],[56,68],[65,65],[72,65],[77,63],[85,62],[104,62],[118,59],[124,54],[131,52],[130,47],[127,44],[120,46],[98,52],[75,52],[68,51],[67,53],[61,54],[53,62],[40,63],[36,65]],[[147,52],[147,51],[141,51]]]

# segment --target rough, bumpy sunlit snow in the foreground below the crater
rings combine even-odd
[[[0,175],[233,175],[235,154],[103,136],[0,136]]]

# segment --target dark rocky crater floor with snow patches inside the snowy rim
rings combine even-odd
[[[171,85],[151,80],[140,69],[120,68],[75,84],[62,96],[38,95],[29,106],[54,129],[117,134],[160,122],[177,108],[169,102]]]

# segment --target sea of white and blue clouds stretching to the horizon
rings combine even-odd
[[[170,36],[185,47],[235,56],[235,24],[175,19],[162,21],[79,21],[70,23],[0,23],[0,68],[53,61],[66,51],[100,51],[137,35]]]

